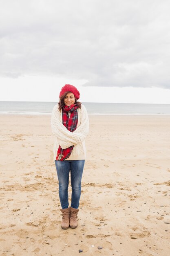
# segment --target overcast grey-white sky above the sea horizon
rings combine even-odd
[[[0,0],[0,100],[55,101],[71,83],[83,101],[170,103],[169,10],[169,0]]]

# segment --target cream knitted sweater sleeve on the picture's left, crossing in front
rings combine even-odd
[[[53,135],[55,135],[57,138],[60,139],[60,142],[64,141],[68,144],[75,145],[80,143],[85,139],[85,135],[83,133],[74,133],[67,130],[67,128],[62,124],[60,121],[60,112],[57,109],[57,105],[53,108],[52,116],[51,116],[51,129]],[[62,144],[62,143],[61,143]],[[61,147],[64,147],[63,145],[60,145]],[[66,146],[66,145],[65,145]],[[68,146],[67,146],[68,147]]]

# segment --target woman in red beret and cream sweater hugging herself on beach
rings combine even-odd
[[[77,227],[77,213],[81,195],[81,180],[86,159],[84,139],[88,134],[86,108],[77,101],[79,91],[66,84],[60,92],[60,101],[52,111],[51,128],[55,135],[54,159],[59,182],[62,209],[62,229]],[[71,207],[68,207],[68,183],[71,172]]]

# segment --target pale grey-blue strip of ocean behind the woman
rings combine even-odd
[[[57,102],[0,101],[0,115],[51,115]],[[88,103],[89,115],[170,115],[170,104]]]

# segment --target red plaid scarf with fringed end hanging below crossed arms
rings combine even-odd
[[[68,112],[71,112],[70,118]],[[62,108],[62,123],[70,132],[73,132],[77,128],[78,113],[76,104]],[[56,160],[64,161],[67,159],[71,155],[73,148],[74,146],[70,146],[69,148],[62,149],[61,146],[59,146]]]

